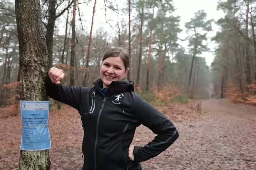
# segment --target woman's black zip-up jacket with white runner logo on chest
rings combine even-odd
[[[102,89],[101,79],[93,87],[56,85],[47,76],[50,98],[78,110],[84,129],[83,170],[140,170],[140,162],[167,149],[178,137],[173,123],[139,94],[132,81],[113,81]],[[157,136],[145,146],[135,146],[134,161],[128,148],[136,127],[144,125]]]

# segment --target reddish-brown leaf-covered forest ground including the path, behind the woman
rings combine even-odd
[[[202,100],[200,112],[198,103],[161,107],[180,137],[157,157],[142,162],[143,170],[256,169],[256,107],[209,99]],[[51,169],[81,170],[83,130],[79,114],[68,106],[54,110],[49,129]],[[0,134],[0,169],[18,169],[20,115],[1,118]],[[133,144],[144,146],[154,136],[148,128],[139,126]]]

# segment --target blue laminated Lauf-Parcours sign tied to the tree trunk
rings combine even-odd
[[[21,150],[38,151],[51,148],[48,129],[49,101],[20,101]]]

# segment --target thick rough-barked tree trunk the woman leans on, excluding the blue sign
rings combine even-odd
[[[30,10],[28,10],[30,9]],[[48,72],[48,50],[42,27],[39,0],[15,0],[18,30],[22,96],[26,101],[46,101],[45,78]],[[49,150],[20,151],[20,170],[49,170]]]

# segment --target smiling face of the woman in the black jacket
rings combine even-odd
[[[108,88],[112,81],[121,81],[126,75],[124,62],[120,57],[108,57],[102,63],[100,78],[103,81],[103,88]]]

